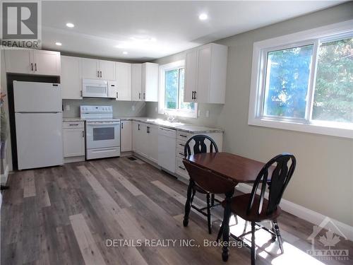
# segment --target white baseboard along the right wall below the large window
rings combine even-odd
[[[250,193],[252,187],[249,184],[239,184],[237,186],[237,189],[240,192]],[[267,192],[265,193],[265,196],[268,196]],[[325,218],[328,217],[328,216],[324,216],[321,213],[313,211],[309,208],[305,208],[303,206],[300,206],[299,204],[294,204],[294,203],[292,203],[292,201],[288,201],[286,199],[282,199],[282,201],[280,203],[280,207],[282,208],[283,211],[287,211],[288,213],[292,213],[292,215],[298,216],[301,219],[304,219],[310,223],[313,223],[313,225],[320,226],[321,223],[323,223],[323,220],[325,220]],[[335,223],[337,228],[339,228],[342,231],[342,233],[347,237],[347,239],[353,241],[353,227],[352,226],[347,225],[345,223],[342,223],[339,220],[335,220],[333,218],[330,218],[330,220],[333,223]]]

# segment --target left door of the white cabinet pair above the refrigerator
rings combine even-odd
[[[30,49],[6,49],[5,67],[8,73],[32,73],[34,66],[30,64]],[[33,67],[33,69],[32,69]]]

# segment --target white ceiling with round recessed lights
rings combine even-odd
[[[43,1],[42,47],[148,61],[340,3]],[[207,13],[208,20],[199,20],[200,13]],[[67,28],[68,22],[75,27]],[[56,46],[55,42],[61,42],[62,46]],[[124,51],[128,54],[123,54]]]

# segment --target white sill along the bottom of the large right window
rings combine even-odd
[[[274,121],[264,118],[249,119],[249,125],[263,126],[275,129],[285,129],[290,131],[303,131],[311,134],[323,134],[328,136],[338,136],[353,139],[353,125],[349,124],[328,124],[328,122],[312,122],[310,124],[292,121]]]

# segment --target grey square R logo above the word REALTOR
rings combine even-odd
[[[3,39],[37,39],[38,4],[3,3],[2,33]]]

